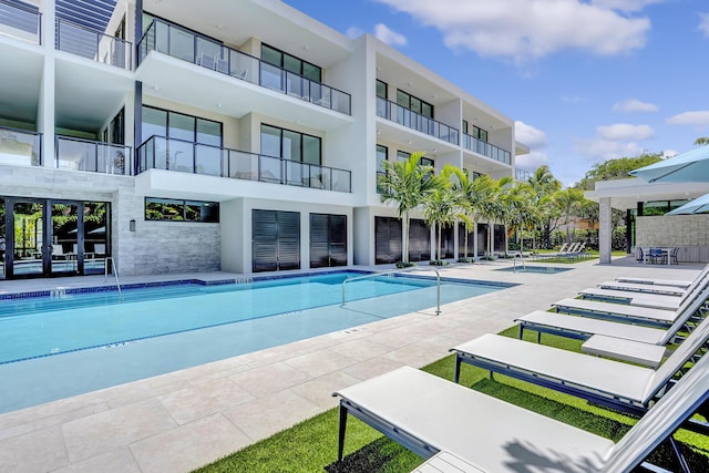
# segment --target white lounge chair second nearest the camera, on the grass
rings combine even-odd
[[[493,333],[450,351],[455,352],[455,382],[461,363],[467,363],[643,415],[671,388],[676,376],[681,379],[685,364],[706,351],[709,318],[703,319],[657,370]]]

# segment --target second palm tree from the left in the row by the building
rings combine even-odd
[[[441,174],[433,178],[433,187],[423,200],[423,217],[427,224],[436,229],[436,263],[441,258],[441,234],[443,227],[453,225],[459,219],[466,218],[460,205],[460,199],[453,191],[451,177],[460,173],[460,168],[446,164]]]

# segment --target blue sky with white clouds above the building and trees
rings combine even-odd
[[[709,136],[707,0],[285,0],[372,34],[515,121],[565,186]]]

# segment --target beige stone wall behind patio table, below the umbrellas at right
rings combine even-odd
[[[709,215],[637,217],[636,247],[679,247],[677,259],[709,263]]]

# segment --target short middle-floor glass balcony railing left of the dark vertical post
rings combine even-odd
[[[131,175],[131,146],[69,136],[56,137],[56,167]]]

